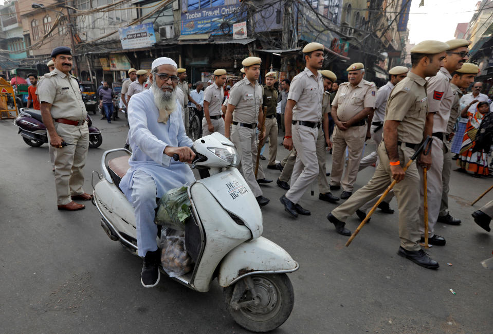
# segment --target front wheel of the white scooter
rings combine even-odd
[[[281,326],[295,304],[293,285],[286,274],[246,276],[224,288],[224,299],[234,321],[253,332]]]

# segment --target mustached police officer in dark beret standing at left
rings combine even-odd
[[[58,210],[81,210],[85,206],[72,199],[90,200],[84,192],[84,167],[89,147],[87,112],[79,84],[69,74],[72,53],[60,46],[51,52],[55,69],[44,75],[38,87],[41,115],[54,150]]]

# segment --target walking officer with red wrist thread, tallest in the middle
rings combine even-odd
[[[319,171],[316,143],[321,131],[323,82],[318,70],[323,65],[323,51],[320,43],[308,43],[303,48],[305,69],[291,81],[284,110],[284,147],[292,150],[294,146],[297,156],[291,187],[280,200],[284,210],[294,217],[311,214],[299,201]]]

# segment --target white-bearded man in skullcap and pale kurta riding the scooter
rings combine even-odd
[[[177,103],[177,67],[170,58],[156,59],[152,63],[152,87],[132,96],[128,105],[132,156],[120,189],[135,210],[138,254],[143,257],[141,283],[146,288],[156,286],[160,279],[156,198],[194,180],[190,167],[182,163],[191,163],[195,154]],[[173,154],[179,161],[171,158]]]

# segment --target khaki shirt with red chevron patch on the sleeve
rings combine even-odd
[[[432,132],[446,132],[450,118],[453,94],[450,88],[452,76],[445,67],[442,67],[436,76],[427,78],[428,88],[428,112],[433,115]]]

